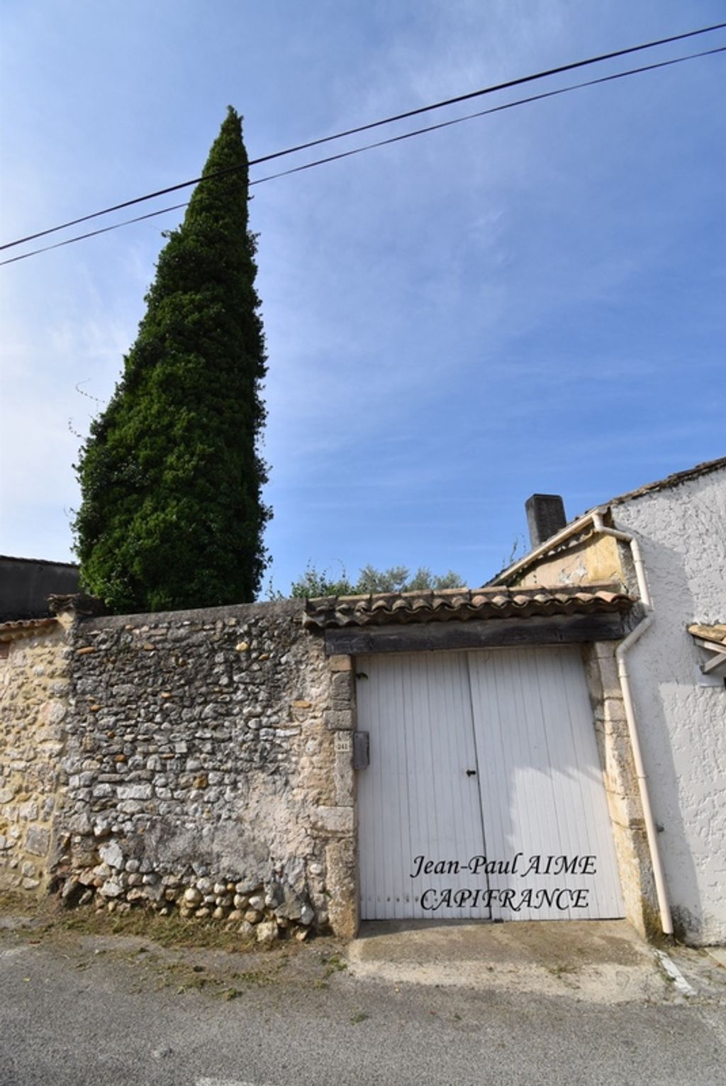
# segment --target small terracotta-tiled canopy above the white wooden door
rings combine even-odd
[[[362,596],[323,596],[305,601],[308,629],[447,622],[468,619],[531,618],[627,611],[633,599],[617,584],[556,589],[446,589],[442,592],[384,592]]]

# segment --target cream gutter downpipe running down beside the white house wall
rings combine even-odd
[[[652,624],[653,605],[650,598],[650,592],[648,591],[648,582],[646,580],[646,567],[642,560],[642,555],[640,553],[640,547],[638,546],[638,541],[634,539],[633,535],[628,535],[627,532],[617,531],[615,528],[606,528],[606,526],[602,523],[602,514],[600,510],[596,510],[595,513],[593,513],[591,517],[593,517],[593,530],[595,532],[599,532],[602,535],[611,535],[613,539],[621,540],[623,543],[628,544],[631,548],[631,554],[633,556],[633,564],[635,566],[635,576],[638,582],[640,603],[645,608],[645,615],[642,619],[638,622],[635,629],[631,630],[627,637],[621,641],[620,645],[615,649],[615,659],[617,660],[617,677],[620,679],[621,689],[623,691],[623,705],[625,707],[625,719],[627,721],[627,730],[631,738],[631,747],[633,749],[633,760],[635,761],[635,771],[638,778],[638,792],[640,794],[642,816],[646,823],[646,834],[648,837],[650,861],[653,868],[653,879],[655,881],[655,894],[658,897],[658,906],[661,914],[661,927],[663,929],[664,935],[673,935],[673,919],[671,917],[671,906],[668,905],[667,891],[665,887],[665,876],[663,874],[663,866],[661,863],[661,856],[658,847],[658,831],[655,829],[653,812],[650,806],[648,778],[642,761],[640,737],[638,734],[638,727],[635,718],[635,708],[633,705],[633,696],[631,693],[631,677],[627,670],[627,662],[625,659],[628,649],[636,643],[636,641],[639,641],[639,639],[642,636],[646,630]]]

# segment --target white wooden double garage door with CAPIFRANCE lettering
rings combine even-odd
[[[364,920],[624,915],[570,647],[356,658]]]

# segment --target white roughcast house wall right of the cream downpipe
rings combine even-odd
[[[642,547],[654,622],[631,653],[633,693],[677,931],[726,943],[726,684],[687,626],[726,622],[726,470],[614,504]],[[702,677],[701,677],[702,678]]]

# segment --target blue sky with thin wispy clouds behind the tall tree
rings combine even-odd
[[[196,176],[228,104],[255,157],[724,13],[708,0],[3,0],[0,233]],[[648,59],[719,45],[726,31]],[[481,584],[522,553],[533,491],[561,493],[574,517],[724,455],[725,86],[721,54],[253,190],[276,588],[308,560]],[[72,558],[73,431],[95,407],[76,386],[107,400],[180,214],[0,268],[0,552]]]

